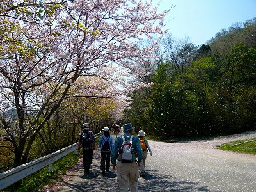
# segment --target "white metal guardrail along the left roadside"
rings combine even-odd
[[[101,133],[102,132],[95,134],[95,138],[97,138]],[[28,175],[31,175],[38,170],[41,170],[45,166],[49,165],[49,171],[52,172],[52,163],[58,161],[62,157],[67,156],[67,154],[70,154],[72,152],[75,152],[75,154],[77,154],[77,145],[78,143],[74,143],[73,145],[70,145],[68,147],[61,148],[61,150],[53,152],[52,154],[41,157],[34,161],[30,161],[29,163],[22,164],[6,172],[0,173],[0,190],[7,188],[8,186],[19,181],[20,179],[24,179]]]

